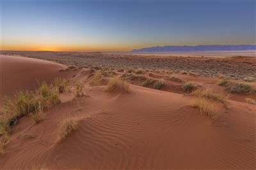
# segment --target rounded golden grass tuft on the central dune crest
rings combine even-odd
[[[119,80],[118,78],[112,78],[106,87],[106,92],[129,92],[129,84],[125,81]]]

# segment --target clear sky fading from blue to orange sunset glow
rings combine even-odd
[[[255,44],[255,0],[1,0],[1,50],[244,44]]]

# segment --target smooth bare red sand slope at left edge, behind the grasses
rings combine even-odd
[[[67,71],[60,71],[67,66],[55,62],[8,55],[0,55],[0,60],[0,98],[21,89],[33,90],[38,86],[37,81],[49,83],[57,76],[70,76]]]

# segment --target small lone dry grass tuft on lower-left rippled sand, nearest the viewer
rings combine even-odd
[[[78,126],[77,120],[74,119],[64,119],[61,121],[61,131],[57,143],[63,141],[72,132],[76,131]]]

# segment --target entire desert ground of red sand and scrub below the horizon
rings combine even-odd
[[[255,169],[253,57],[17,55],[1,55],[1,169]],[[60,102],[28,112],[22,89]]]

